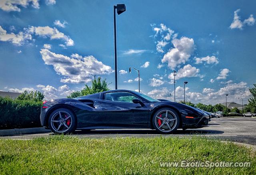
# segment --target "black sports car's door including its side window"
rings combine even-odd
[[[135,104],[139,98],[130,92],[108,92],[99,107],[102,123],[113,128],[147,128],[148,103]]]

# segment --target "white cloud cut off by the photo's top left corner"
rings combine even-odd
[[[39,0],[0,0],[0,9],[10,12],[17,11],[20,12],[20,6],[26,8],[29,5],[34,8],[40,8]]]

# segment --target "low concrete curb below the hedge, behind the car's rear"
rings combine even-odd
[[[12,136],[12,135],[20,135],[20,134],[34,134],[34,133],[45,133],[45,132],[51,132],[51,130],[47,130],[44,127],[0,130],[0,136]]]

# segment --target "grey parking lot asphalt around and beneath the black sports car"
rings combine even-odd
[[[46,137],[53,133],[25,134],[5,136],[2,139],[26,140],[35,137]],[[158,134],[155,130],[148,129],[120,129],[120,130],[77,130],[73,136],[79,138],[104,138],[104,137],[190,137],[203,136],[226,141],[240,142],[256,145],[256,119],[250,117],[223,117],[212,118],[209,126],[200,129],[177,130],[173,134]]]

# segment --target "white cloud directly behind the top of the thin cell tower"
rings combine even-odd
[[[184,67],[180,68],[177,71],[176,80],[184,78],[184,77],[200,77],[201,75],[198,74],[200,69],[196,69],[196,67],[192,67],[191,65],[185,65]],[[173,73],[170,73],[168,76],[169,79],[174,79]]]

